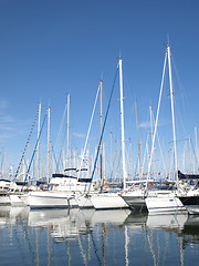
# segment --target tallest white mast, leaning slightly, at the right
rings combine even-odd
[[[171,75],[171,63],[170,63],[170,47],[167,45],[168,54],[168,66],[169,66],[169,83],[170,83],[170,101],[171,101],[171,115],[172,115],[172,134],[174,134],[174,152],[175,152],[175,168],[178,184],[178,158],[177,158],[177,143],[176,143],[176,125],[175,125],[175,112],[174,112],[174,90],[172,90],[172,75]]]

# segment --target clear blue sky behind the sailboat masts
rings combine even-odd
[[[119,53],[124,66],[125,135],[132,140],[136,160],[134,101],[137,100],[144,150],[149,130],[148,106],[151,104],[156,113],[168,35],[180,81],[175,86],[177,139],[191,134],[193,142],[199,113],[198,13],[197,0],[0,0],[1,162],[6,151],[7,164],[18,166],[40,101],[42,117],[51,105],[51,141],[55,143],[67,93],[71,94],[70,142],[80,151],[102,76],[105,115]],[[115,151],[121,137],[117,89],[104,136],[107,162],[109,132]],[[166,86],[158,129],[165,150],[172,140],[168,94]],[[100,137],[98,115],[100,105],[91,132],[92,153]],[[43,134],[46,135],[46,129]],[[41,140],[43,150],[45,139]],[[126,141],[127,150],[128,144]]]

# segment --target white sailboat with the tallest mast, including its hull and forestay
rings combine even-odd
[[[161,92],[163,92],[163,84],[165,78],[165,68],[168,58],[168,66],[169,66],[169,82],[170,82],[170,98],[171,98],[171,114],[172,114],[172,130],[174,130],[174,144],[175,144],[175,158],[176,158],[176,173],[178,170],[177,165],[177,146],[176,146],[176,129],[175,129],[175,116],[174,116],[174,99],[172,99],[172,80],[171,80],[171,65],[170,65],[170,47],[167,45],[166,55],[165,55],[165,63],[164,63],[164,71],[161,78],[161,86],[159,93],[159,102],[156,115],[156,123],[155,123],[155,131],[153,134],[153,144],[151,144],[151,152],[150,152],[150,161],[148,164],[148,176],[147,180],[139,182],[140,184],[145,183],[145,187],[140,184],[134,184],[132,186],[132,191],[124,192],[122,194],[123,198],[128,203],[130,208],[136,211],[148,211],[149,213],[167,213],[167,212],[184,212],[187,211],[184,206],[184,203],[179,200],[177,195],[177,191],[167,190],[163,191],[161,187],[157,190],[148,190],[149,183],[153,182],[149,180],[150,166],[151,166],[151,158],[154,153],[154,144],[155,137],[157,132],[157,122],[159,115],[159,108],[160,108],[160,100],[161,100]],[[177,187],[179,187],[178,176],[177,176]]]

